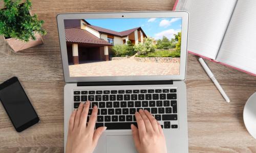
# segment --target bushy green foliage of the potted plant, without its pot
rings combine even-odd
[[[37,15],[30,15],[30,0],[20,4],[21,0],[4,0],[4,9],[0,10],[0,35],[6,38],[24,40],[35,40],[34,32],[46,35],[41,28],[44,21],[38,20]]]

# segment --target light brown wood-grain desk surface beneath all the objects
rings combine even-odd
[[[174,1],[63,2],[33,0],[34,13],[45,20],[44,44],[13,53],[0,40],[0,82],[16,75],[29,93],[41,122],[17,133],[0,105],[0,152],[63,152],[63,80],[56,15],[61,12],[163,11]],[[3,1],[1,5],[3,6]],[[256,140],[246,131],[243,108],[256,92],[256,78],[206,61],[226,91],[227,104],[197,58],[188,55],[187,111],[189,152],[256,152]]]

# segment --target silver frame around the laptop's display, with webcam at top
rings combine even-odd
[[[57,15],[57,26],[62,58],[62,67],[65,82],[108,82],[108,81],[159,81],[159,80],[185,80],[187,60],[187,32],[188,12],[164,11],[164,12],[120,12],[120,13],[61,13]],[[181,17],[181,57],[179,75],[126,75],[107,77],[70,77],[66,36],[65,19],[106,19],[106,18],[159,18]]]

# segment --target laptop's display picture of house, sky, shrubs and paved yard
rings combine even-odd
[[[182,18],[65,19],[70,77],[179,75]]]

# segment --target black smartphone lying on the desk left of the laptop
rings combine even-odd
[[[0,100],[17,132],[39,122],[39,117],[17,77],[0,84]]]

